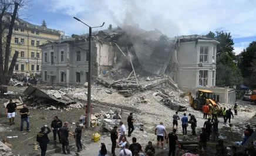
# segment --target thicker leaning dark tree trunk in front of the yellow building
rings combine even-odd
[[[5,66],[4,66],[4,80],[2,82],[4,82],[4,84],[6,84],[6,80],[8,80],[8,64],[9,64],[9,53],[10,53],[10,46],[11,46],[11,39],[12,39],[12,29],[14,29],[14,22],[15,22],[15,18],[18,12],[18,6],[19,4],[17,2],[15,2],[14,4],[14,12],[12,14],[12,20],[11,23],[9,25],[9,32],[8,32],[8,36],[6,39],[6,47],[5,47]],[[12,59],[14,60],[14,59]],[[1,61],[1,60],[0,60]],[[9,82],[8,82],[9,83]]]

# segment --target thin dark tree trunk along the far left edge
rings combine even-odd
[[[4,29],[2,29],[3,27],[3,17],[4,17],[4,13],[6,11],[6,7],[4,6],[4,8],[2,9],[1,15],[0,15],[0,84],[2,83],[2,79],[3,79],[3,46],[2,46],[2,35],[4,34]]]

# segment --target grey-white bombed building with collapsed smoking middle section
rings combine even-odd
[[[218,44],[205,36],[169,38],[157,29],[148,31],[132,26],[100,30],[92,37],[92,75],[127,69],[146,76],[166,74],[187,91],[198,87],[212,89]],[[87,82],[88,45],[87,35],[73,35],[42,45],[42,82],[63,85]],[[227,99],[226,92],[220,91],[216,99],[233,101]]]

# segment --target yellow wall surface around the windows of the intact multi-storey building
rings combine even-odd
[[[19,52],[16,65],[18,65],[18,70],[14,69],[14,73],[40,73],[41,72],[41,63],[42,63],[42,50],[37,47],[36,42],[39,42],[39,45],[46,43],[46,40],[57,40],[60,37],[60,34],[50,33],[43,30],[38,30],[39,34],[36,34],[36,29],[31,29],[29,26],[19,26],[16,23],[16,28],[18,30],[13,30],[12,39],[11,39],[11,55],[9,57],[9,65],[11,65],[12,57],[14,56],[15,51]],[[21,32],[21,28],[24,29],[24,32]],[[32,33],[32,30],[34,33]],[[18,38],[18,43],[15,43],[15,38]],[[24,43],[21,43],[21,39],[24,40]],[[34,45],[31,44],[32,40]],[[21,53],[24,52],[23,57]],[[32,56],[31,54],[35,55]],[[39,57],[36,57],[36,53],[39,53]],[[24,70],[21,69],[21,66],[24,65]],[[32,70],[32,65],[34,65],[34,70]],[[39,65],[39,70],[36,71],[36,65]]]

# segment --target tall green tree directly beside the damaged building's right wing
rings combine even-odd
[[[234,41],[231,33],[209,32],[206,35],[220,42],[217,45],[216,61],[216,86],[233,86],[242,83],[243,78],[240,69],[235,65]]]

